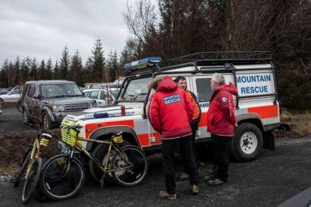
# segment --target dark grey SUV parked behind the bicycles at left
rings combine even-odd
[[[64,80],[26,82],[22,102],[24,122],[36,119],[44,129],[60,123],[66,115],[96,106],[76,83]]]

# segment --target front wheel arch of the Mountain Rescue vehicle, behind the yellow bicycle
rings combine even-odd
[[[129,126],[108,126],[101,129],[97,129],[94,131],[89,139],[92,140],[106,140],[107,138],[110,138],[113,131],[122,131],[122,135],[124,140],[127,142],[140,147],[140,141],[138,140],[137,134],[135,131],[129,127]],[[86,149],[87,151],[90,151],[95,146],[94,142],[87,142]]]

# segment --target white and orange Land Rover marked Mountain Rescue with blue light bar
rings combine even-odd
[[[185,76],[187,89],[198,97],[202,115],[196,133],[196,144],[210,141],[207,132],[207,112],[212,90],[213,73],[224,75],[237,87],[235,115],[238,127],[230,147],[230,155],[240,161],[257,158],[262,148],[274,149],[272,129],[280,126],[280,108],[276,84],[276,68],[271,63],[270,52],[218,52],[194,53],[168,61],[160,67],[161,58],[145,58],[124,65],[127,69],[124,83],[114,106],[90,108],[76,115],[67,115],[62,121],[62,151],[72,143],[68,125],[80,125],[80,136],[86,139],[105,140],[112,131],[123,131],[124,140],[142,147],[146,154],[161,149],[160,134],[149,123],[147,107],[154,92],[147,89],[151,78],[160,76]],[[174,64],[171,64],[174,63]],[[93,142],[84,142],[90,152],[96,154]]]

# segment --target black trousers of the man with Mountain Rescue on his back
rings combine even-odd
[[[174,156],[178,147],[180,147],[187,172],[190,172],[190,185],[198,185],[199,183],[198,170],[192,153],[191,135],[173,140],[162,140],[165,186],[169,194],[176,192]]]

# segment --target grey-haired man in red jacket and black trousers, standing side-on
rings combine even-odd
[[[237,88],[233,83],[225,83],[224,76],[213,74],[211,88],[214,90],[208,108],[208,132],[212,136],[214,167],[212,174],[205,180],[210,185],[222,185],[228,181],[228,144],[233,139],[235,126],[235,105],[233,95]]]

